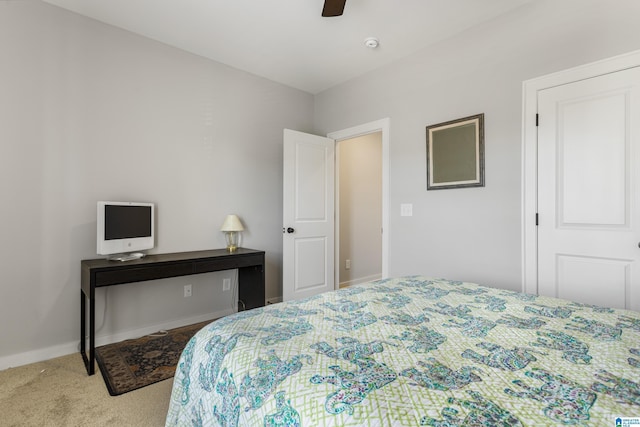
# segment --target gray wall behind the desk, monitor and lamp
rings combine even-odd
[[[77,350],[98,200],[156,203],[155,252],[224,247],[238,214],[281,295],[282,130],[313,130],[311,95],[39,1],[0,1],[0,58],[0,369]],[[223,277],[99,290],[98,341],[229,312]]]

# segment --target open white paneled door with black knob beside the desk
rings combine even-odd
[[[333,290],[335,141],[284,130],[282,298]]]

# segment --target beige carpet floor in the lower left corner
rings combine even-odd
[[[88,376],[79,353],[0,371],[5,427],[164,426],[173,379],[110,396],[100,373]]]

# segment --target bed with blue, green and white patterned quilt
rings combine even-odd
[[[632,417],[640,313],[412,276],[211,323],[181,356],[166,425],[605,427]]]

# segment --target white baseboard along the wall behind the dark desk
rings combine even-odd
[[[200,323],[210,319],[217,319],[219,317],[228,316],[229,314],[233,314],[231,309],[221,310],[215,313],[202,314],[187,319],[174,320],[157,325],[145,326],[143,328],[130,329],[112,335],[97,336],[96,347],[99,347],[101,345],[113,344],[115,342],[120,342],[131,338],[139,338],[148,334],[152,334],[154,332],[158,332],[160,330],[179,328],[181,326],[192,325],[194,323]],[[0,371],[9,368],[17,368],[18,366],[28,365],[30,363],[42,362],[44,360],[54,359],[56,357],[67,356],[73,353],[79,353],[79,341],[80,340],[31,350],[24,353],[2,356],[0,357]]]

